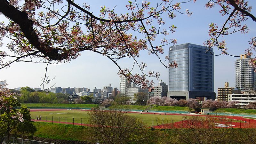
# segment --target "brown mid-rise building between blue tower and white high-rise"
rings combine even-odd
[[[225,87],[218,88],[218,100],[228,101],[229,93],[241,93],[240,89],[234,87],[228,87],[228,82],[225,82]]]

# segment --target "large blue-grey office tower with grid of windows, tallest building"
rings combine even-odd
[[[215,99],[213,50],[196,44],[180,44],[169,49],[169,62],[178,68],[169,68],[168,97],[180,99]]]

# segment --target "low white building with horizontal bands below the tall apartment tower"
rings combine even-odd
[[[238,105],[244,107],[251,102],[256,102],[255,93],[241,93],[241,94],[228,94],[228,101],[237,100],[239,101]]]

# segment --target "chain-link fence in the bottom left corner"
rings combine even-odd
[[[43,141],[27,140],[13,137],[0,136],[1,143],[3,144],[54,144]]]

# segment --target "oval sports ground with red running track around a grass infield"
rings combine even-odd
[[[89,109],[67,109],[67,108],[31,108],[31,121],[40,123],[59,123],[81,126],[90,126]],[[256,115],[211,113],[210,115],[180,113],[180,112],[141,112],[127,111],[127,115],[141,118],[147,127],[154,128],[186,128],[193,122],[184,120],[184,117],[200,116],[204,119],[214,121],[216,128],[256,128]],[[41,117],[41,118],[40,118]],[[198,127],[205,124],[194,123]]]

